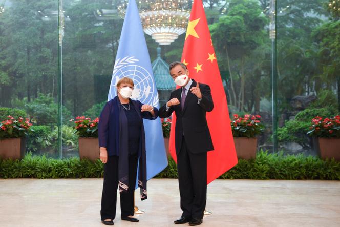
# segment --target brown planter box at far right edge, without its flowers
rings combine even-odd
[[[340,161],[340,138],[313,138],[313,145],[322,159],[334,158]]]

